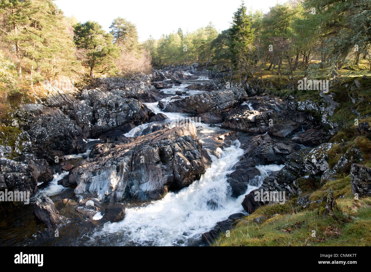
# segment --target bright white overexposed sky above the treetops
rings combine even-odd
[[[267,12],[278,0],[245,0],[247,9]],[[66,16],[74,15],[79,22],[96,21],[109,31],[112,20],[123,17],[137,26],[139,41],[152,35],[158,39],[162,34],[183,33],[207,26],[212,21],[216,29],[230,26],[233,13],[240,0],[55,0]]]

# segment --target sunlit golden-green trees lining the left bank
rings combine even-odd
[[[65,17],[51,0],[0,0],[0,115],[45,80],[150,72],[135,25],[119,17],[110,29]]]

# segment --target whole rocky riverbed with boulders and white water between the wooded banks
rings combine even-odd
[[[272,203],[256,201],[257,190],[305,205],[308,183],[351,165],[352,189],[370,193],[358,150],[329,169],[331,92],[295,101],[212,76],[191,66],[96,79],[20,106],[16,143],[0,146],[0,189],[31,199],[1,203],[0,243],[209,245]]]

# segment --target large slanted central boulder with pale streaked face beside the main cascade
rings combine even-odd
[[[110,145],[110,144],[107,144]],[[194,124],[164,128],[128,144],[102,148],[72,170],[77,196],[97,192],[102,201],[159,199],[169,189],[188,186],[210,166]]]

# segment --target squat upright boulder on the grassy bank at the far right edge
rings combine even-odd
[[[354,163],[350,175],[352,193],[358,193],[359,197],[371,196],[371,168]]]

